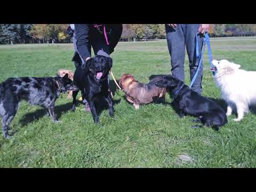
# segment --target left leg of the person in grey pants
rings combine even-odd
[[[172,75],[180,81],[185,81],[185,34],[183,24],[176,28],[165,25],[167,45],[171,55]]]

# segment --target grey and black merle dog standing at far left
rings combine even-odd
[[[68,90],[77,90],[68,74],[64,77],[12,77],[1,83],[0,116],[4,137],[9,138],[9,124],[17,113],[21,100],[47,108],[52,121],[58,122],[54,114],[55,101],[60,92]]]

